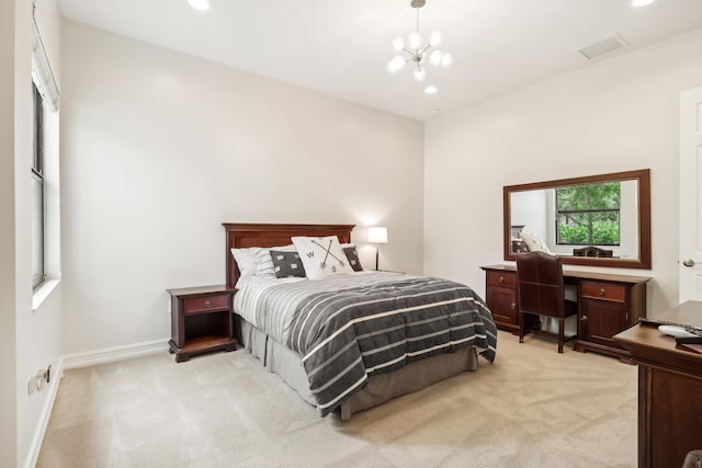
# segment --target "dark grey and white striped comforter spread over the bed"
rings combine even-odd
[[[249,278],[247,278],[249,279]],[[495,359],[492,316],[468,286],[392,273],[239,282],[235,312],[303,356],[325,415],[367,378],[475,346]]]

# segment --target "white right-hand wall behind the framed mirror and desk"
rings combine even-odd
[[[653,270],[616,272],[653,276],[649,316],[678,304],[679,93],[702,84],[700,44],[697,30],[428,123],[424,272],[484,294],[503,185],[650,168]]]

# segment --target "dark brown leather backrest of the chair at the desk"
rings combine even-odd
[[[561,258],[544,252],[518,254],[517,290],[521,311],[563,318],[565,307]]]

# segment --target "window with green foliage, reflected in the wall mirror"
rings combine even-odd
[[[556,242],[619,246],[620,202],[619,182],[556,189]]]

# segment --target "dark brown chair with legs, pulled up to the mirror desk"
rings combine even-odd
[[[574,334],[566,339],[565,319],[578,313],[578,305],[565,299],[561,258],[544,252],[517,255],[517,292],[519,342],[524,342],[525,313],[554,317],[558,320],[558,353],[563,353],[564,342],[577,338]]]

